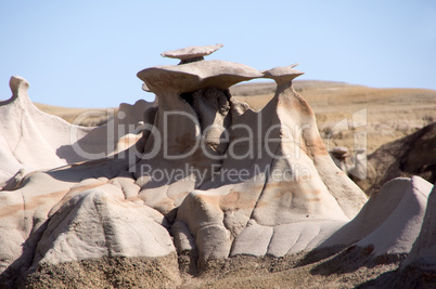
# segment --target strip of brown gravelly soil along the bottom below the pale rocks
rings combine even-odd
[[[368,248],[285,258],[238,255],[210,261],[200,275],[179,274],[175,255],[113,258],[40,266],[27,288],[355,288],[397,278],[402,255],[373,258]]]

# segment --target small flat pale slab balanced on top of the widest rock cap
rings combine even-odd
[[[180,64],[185,64],[190,62],[202,61],[203,56],[207,56],[222,47],[223,45],[220,43],[215,45],[188,47],[183,49],[166,51],[161,55],[163,57],[180,60]]]

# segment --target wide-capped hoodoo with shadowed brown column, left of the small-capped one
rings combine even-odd
[[[183,51],[171,55],[190,54],[187,52],[190,49]],[[209,48],[195,48],[192,53],[205,55],[209,52]],[[164,135],[167,149],[137,163],[137,183],[148,205],[168,213],[189,192],[201,185],[198,173],[194,172],[201,172],[204,182],[211,178],[213,170],[219,169],[220,155],[228,143],[219,139],[227,133],[232,119],[231,95],[227,89],[240,81],[262,77],[262,73],[238,63],[201,61],[146,68],[138,73],[138,77],[158,100],[156,118],[151,123],[158,133],[144,137],[145,155],[156,147],[159,135]],[[153,171],[162,168],[180,171],[180,176],[156,183],[151,176]]]

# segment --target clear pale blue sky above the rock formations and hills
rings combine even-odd
[[[161,53],[223,43],[208,60],[299,79],[436,90],[436,1],[1,1],[0,100],[12,75],[34,102],[115,107],[152,95],[136,74]]]

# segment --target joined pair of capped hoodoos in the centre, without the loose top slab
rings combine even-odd
[[[144,156],[151,157],[134,167],[139,196],[163,214],[176,214],[174,235],[191,239],[183,242],[191,248],[179,251],[198,250],[205,262],[240,253],[264,255],[266,248],[278,257],[311,249],[366,202],[330,158],[311,108],[292,89],[292,80],[303,74],[294,67],[258,71],[202,61],[138,74],[159,100],[151,123],[156,131],[144,139]],[[259,77],[273,79],[278,88],[256,113],[227,89]],[[162,139],[169,144],[167,152],[152,154]],[[180,171],[177,180],[156,178],[170,170]],[[188,235],[179,232],[184,227]],[[267,242],[253,242],[260,235]],[[298,235],[303,237],[293,241]]]

